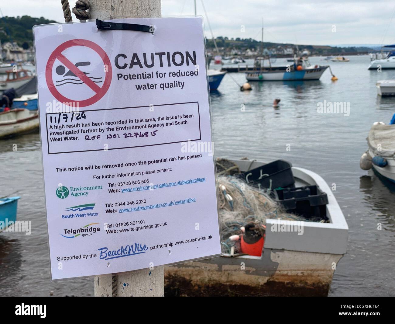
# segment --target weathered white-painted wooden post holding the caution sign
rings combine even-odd
[[[91,19],[161,17],[161,0],[90,0]],[[148,265],[147,265],[148,266]],[[94,278],[95,296],[164,296],[164,267]]]

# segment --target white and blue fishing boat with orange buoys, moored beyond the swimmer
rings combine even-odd
[[[311,65],[307,58],[295,58],[294,63],[288,66],[263,67],[262,63],[256,64],[255,72],[246,72],[247,81],[295,81],[319,80],[329,65]],[[263,68],[262,68],[263,67]]]

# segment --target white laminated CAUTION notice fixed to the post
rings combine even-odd
[[[221,254],[201,18],[34,27],[53,280]]]

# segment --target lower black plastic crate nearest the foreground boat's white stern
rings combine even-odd
[[[275,195],[287,212],[306,218],[314,216],[327,219],[325,205],[328,203],[328,196],[317,186],[276,189]]]

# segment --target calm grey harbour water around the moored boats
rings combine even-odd
[[[225,76],[211,95],[214,147],[217,156],[286,159],[336,184],[335,196],[350,229],[348,251],[337,265],[329,295],[393,295],[395,186],[359,169],[359,157],[367,149],[372,123],[388,123],[395,112],[395,98],[379,98],[374,86],[377,80],[395,79],[395,70],[367,70],[368,56],[350,60],[331,63],[339,78],[335,83],[327,71],[320,81],[252,83],[253,91],[240,92]],[[326,64],[322,58],[310,61]],[[277,59],[276,64],[287,63]],[[244,74],[232,76],[245,82]],[[281,99],[278,110],[272,107],[275,98]],[[317,103],[324,100],[350,102],[350,116],[318,114]],[[49,280],[38,134],[1,141],[0,163],[0,196],[20,195],[18,218],[32,220],[33,226],[30,236],[0,234],[0,296],[48,296],[51,290],[55,296],[93,295],[92,280]]]

